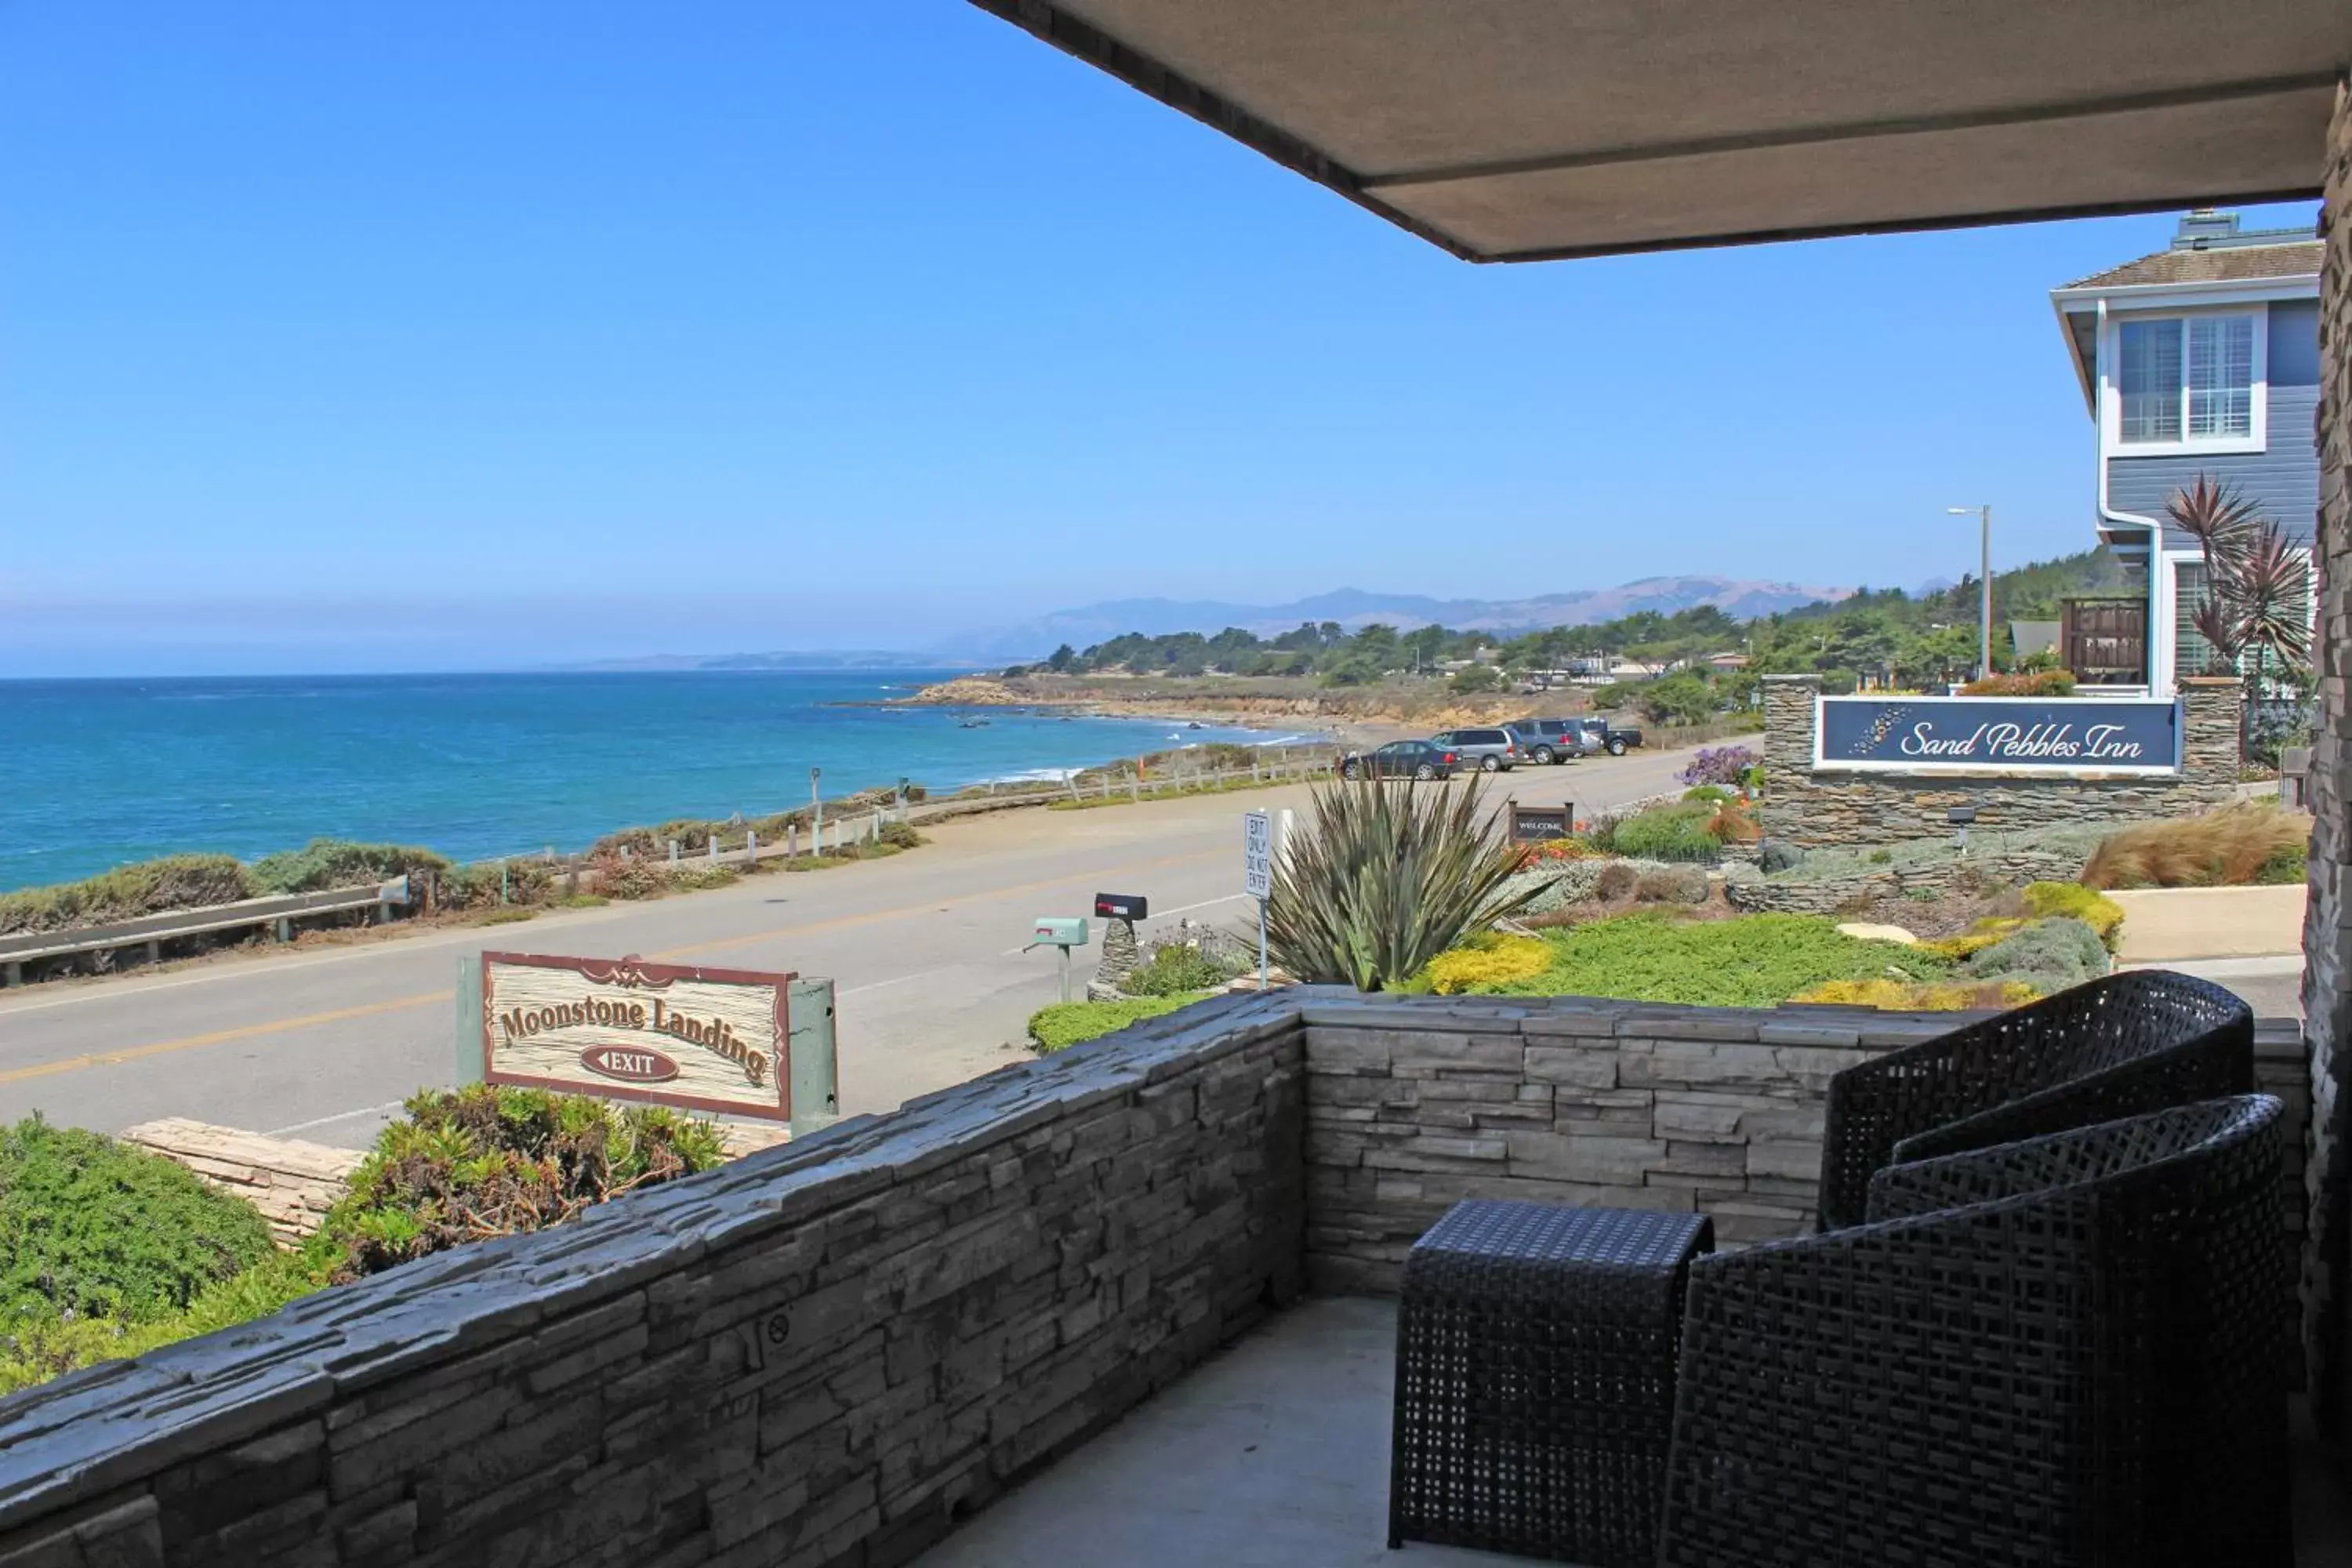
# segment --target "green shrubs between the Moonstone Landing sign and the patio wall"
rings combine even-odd
[[[278,1251],[261,1213],[188,1168],[40,1117],[0,1128],[0,1394],[268,1316],[292,1300],[724,1159],[666,1107],[473,1086],[414,1095],[320,1232]]]

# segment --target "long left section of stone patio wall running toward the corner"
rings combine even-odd
[[[1301,1284],[1204,1004],[0,1403],[5,1568],[903,1563]]]

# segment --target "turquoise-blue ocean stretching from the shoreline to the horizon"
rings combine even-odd
[[[313,837],[459,860],[760,816],[910,778],[938,795],[1204,741],[1169,719],[842,708],[955,670],[0,682],[0,889]],[[964,729],[964,719],[988,724]],[[1298,736],[1291,736],[1298,738]]]

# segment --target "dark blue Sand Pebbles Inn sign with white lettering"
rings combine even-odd
[[[1813,766],[2178,773],[2180,705],[2086,696],[1825,696]]]

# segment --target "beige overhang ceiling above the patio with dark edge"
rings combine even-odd
[[[1470,261],[2317,195],[2343,0],[974,0]]]

